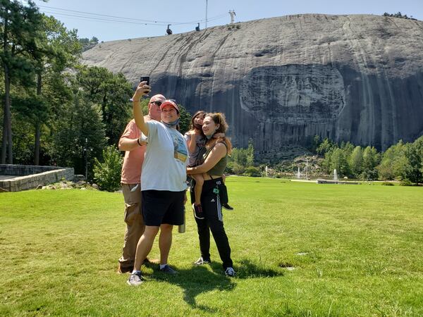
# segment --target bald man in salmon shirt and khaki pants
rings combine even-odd
[[[144,120],[161,120],[160,105],[166,98],[154,95],[148,104],[148,115]],[[125,237],[122,256],[119,259],[118,273],[132,272],[138,240],[144,232],[145,225],[141,211],[141,167],[144,161],[145,142],[135,120],[130,120],[119,139],[119,149],[125,151],[123,159],[121,185],[125,199]]]

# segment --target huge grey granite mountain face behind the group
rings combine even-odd
[[[376,15],[288,15],[166,37],[106,42],[88,65],[188,111],[222,111],[236,147],[275,157],[314,135],[386,149],[423,134],[423,22]]]

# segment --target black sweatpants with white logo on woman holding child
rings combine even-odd
[[[201,204],[204,212],[204,219],[197,219],[198,237],[200,240],[200,251],[203,259],[210,259],[210,231],[216,242],[216,247],[223,262],[223,269],[233,267],[231,259],[231,247],[228,237],[223,228],[222,206],[219,194],[214,194],[216,184],[223,182],[222,178],[205,180],[202,187]],[[190,189],[191,203],[195,201],[194,186]]]

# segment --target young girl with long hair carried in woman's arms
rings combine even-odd
[[[204,144],[206,143],[206,137],[202,131],[202,123],[204,117],[207,113],[204,111],[197,111],[194,116],[191,118],[191,125],[190,130],[185,133],[185,139],[187,141],[188,146],[188,154],[189,154],[189,161],[188,166],[194,167],[197,165],[202,164],[202,161],[199,161],[199,154],[202,148],[204,148]],[[224,133],[216,133],[213,136],[214,138],[217,137],[225,137]],[[194,216],[198,219],[204,219],[204,214],[202,212],[202,206],[200,202],[201,193],[202,193],[202,186],[204,184],[204,178],[201,174],[194,174],[190,175],[193,180],[195,180],[195,202],[192,204],[192,209],[194,209]],[[224,204],[223,208],[232,210],[233,208],[228,204]]]

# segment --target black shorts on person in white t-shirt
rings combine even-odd
[[[182,192],[168,190],[142,190],[142,216],[145,225],[159,227],[162,224],[183,224],[183,199]]]

